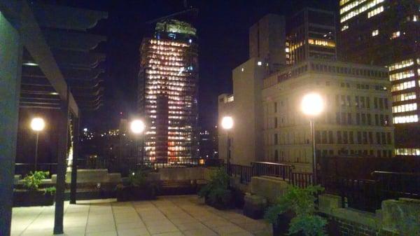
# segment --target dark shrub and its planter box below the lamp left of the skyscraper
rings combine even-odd
[[[131,172],[125,184],[118,184],[116,195],[118,202],[135,200],[153,200],[156,198],[158,185],[148,180],[149,169]]]

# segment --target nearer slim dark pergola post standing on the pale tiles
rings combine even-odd
[[[67,92],[68,98],[69,92]],[[58,122],[58,146],[57,146],[57,191],[55,193],[55,218],[54,234],[63,233],[64,216],[64,190],[66,188],[66,155],[69,136],[69,99],[62,101],[62,109],[59,110]]]

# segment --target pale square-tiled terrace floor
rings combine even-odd
[[[54,207],[13,208],[12,235],[52,235]],[[195,195],[165,196],[154,201],[115,200],[65,203],[64,235],[169,236],[271,235],[270,226],[240,211],[219,211]]]

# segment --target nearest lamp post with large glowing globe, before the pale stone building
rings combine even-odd
[[[311,139],[312,139],[312,172],[314,173],[314,185],[317,182],[316,173],[316,141],[315,141],[315,118],[323,112],[324,102],[321,95],[312,92],[304,95],[301,104],[302,112],[309,116],[309,125],[311,126]]]

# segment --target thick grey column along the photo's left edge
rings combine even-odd
[[[10,235],[18,135],[22,44],[0,11],[0,235]]]

